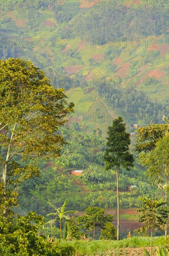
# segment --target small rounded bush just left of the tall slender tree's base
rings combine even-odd
[[[117,230],[111,222],[107,222],[104,229],[101,229],[100,240],[116,240]]]

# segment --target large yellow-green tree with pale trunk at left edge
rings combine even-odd
[[[39,175],[35,158],[60,155],[65,141],[58,128],[74,107],[66,97],[64,89],[53,88],[31,61],[0,60],[0,172],[5,196],[11,184]]]

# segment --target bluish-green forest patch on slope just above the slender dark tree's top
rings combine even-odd
[[[130,124],[133,124],[134,120],[142,121],[144,124],[158,123],[169,111],[167,104],[154,103],[144,91],[138,91],[133,85],[124,88],[121,85],[112,86],[101,81],[97,83],[96,90],[110,107],[123,109],[124,118],[126,118],[125,113],[130,114],[127,119]]]

